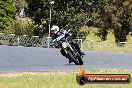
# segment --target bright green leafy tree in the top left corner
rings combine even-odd
[[[9,25],[15,19],[16,8],[13,6],[13,0],[0,1],[0,32],[9,32]]]

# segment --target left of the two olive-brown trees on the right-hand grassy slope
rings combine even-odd
[[[108,0],[93,0],[92,2],[92,22],[93,26],[99,28],[97,36],[101,38],[102,41],[107,40],[108,29],[111,26],[111,16],[106,11]]]

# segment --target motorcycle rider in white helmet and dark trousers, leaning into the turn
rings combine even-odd
[[[61,30],[57,25],[53,25],[51,27],[51,37],[52,37],[52,42],[59,41],[59,39],[61,39],[63,37],[63,34],[61,33]],[[73,45],[76,48],[76,50],[80,53],[80,55],[85,55],[85,53],[80,50],[80,48],[76,42],[72,41],[71,45]],[[63,49],[61,49],[60,52],[63,56],[68,58],[68,56],[66,55],[66,53]],[[72,61],[69,61],[69,64],[71,62]]]

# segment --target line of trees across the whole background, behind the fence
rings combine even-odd
[[[54,0],[53,5],[50,2],[51,0],[0,1],[0,31],[8,29],[8,24],[15,20],[15,13],[22,6],[26,7],[26,15],[33,20],[34,26],[30,25],[32,35],[48,33],[50,8],[51,25],[72,29],[74,37],[86,37],[88,30],[81,32],[80,28],[92,26],[98,28],[96,35],[102,41],[107,40],[110,30],[115,36],[115,42],[124,42],[132,31],[132,0]]]

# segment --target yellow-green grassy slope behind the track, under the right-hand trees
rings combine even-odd
[[[132,36],[127,36],[127,42],[124,47],[119,47],[115,43],[115,38],[112,32],[109,31],[107,40],[101,42],[101,39],[95,35],[97,28],[85,28],[89,30],[86,40],[83,42],[84,50],[98,51],[116,51],[116,52],[132,52]]]

